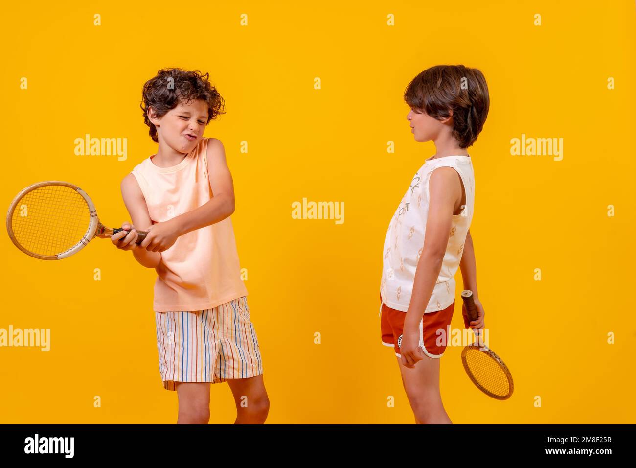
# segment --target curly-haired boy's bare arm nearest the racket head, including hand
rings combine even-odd
[[[121,181],[121,195],[135,229],[128,231],[128,234],[125,236],[122,234],[123,231],[118,232],[111,240],[119,243],[119,240],[123,239],[119,245],[120,248],[123,248],[123,250],[132,250],[135,260],[142,266],[146,268],[156,268],[161,262],[161,253],[149,252],[134,243],[134,239],[137,238],[136,230],[148,230],[148,227],[152,224],[152,220],[148,213],[146,199],[144,199],[141,188],[139,188],[139,184],[133,174],[129,173]],[[122,227],[125,226],[122,225]],[[123,245],[125,245],[125,247]]]

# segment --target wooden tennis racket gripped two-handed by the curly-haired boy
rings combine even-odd
[[[61,260],[78,253],[95,238],[107,239],[122,229],[104,226],[86,192],[72,183],[49,180],[20,190],[6,215],[11,241],[31,257]],[[148,231],[137,231],[137,244]]]

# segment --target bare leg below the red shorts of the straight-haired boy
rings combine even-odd
[[[402,383],[417,424],[452,424],[439,394],[439,359],[425,356],[413,369],[397,358]]]

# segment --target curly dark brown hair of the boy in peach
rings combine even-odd
[[[216,88],[208,81],[209,73],[187,71],[181,68],[164,68],[156,76],[144,83],[141,110],[144,111],[144,122],[150,127],[149,135],[158,143],[157,129],[148,118],[148,109],[153,108],[156,117],[163,117],[179,103],[190,103],[201,99],[207,103],[207,122],[223,112],[225,101]]]

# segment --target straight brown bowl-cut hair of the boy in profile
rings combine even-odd
[[[466,86],[462,86],[464,83]],[[414,111],[438,120],[448,117],[452,109],[452,135],[460,148],[473,145],[490,108],[483,73],[463,65],[436,65],[425,69],[406,87],[404,101]]]

